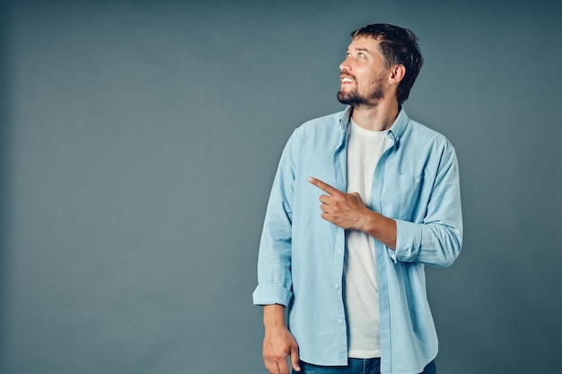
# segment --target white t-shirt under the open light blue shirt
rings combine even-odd
[[[387,131],[370,131],[351,121],[347,146],[347,193],[357,192],[367,206],[371,202],[373,175],[381,155],[391,145]],[[346,230],[344,266],[349,357],[381,357],[379,291],[375,272],[374,243],[368,234]]]

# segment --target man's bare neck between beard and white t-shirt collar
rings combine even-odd
[[[384,131],[391,128],[398,117],[400,107],[396,100],[382,100],[374,107],[357,107],[351,117],[357,126],[371,131]]]

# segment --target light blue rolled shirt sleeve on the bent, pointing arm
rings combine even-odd
[[[426,216],[421,223],[395,220],[394,262],[417,262],[446,267],[459,256],[462,243],[459,166],[451,144],[442,153]]]

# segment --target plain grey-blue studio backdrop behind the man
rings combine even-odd
[[[552,3],[552,4],[550,4]],[[441,373],[556,372],[555,2],[4,1],[0,372],[264,372],[251,305],[286,138],[342,108],[348,33],[417,32],[465,240],[428,269]]]

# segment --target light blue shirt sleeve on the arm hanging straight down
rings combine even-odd
[[[281,155],[271,188],[259,242],[258,286],[253,292],[256,305],[288,306],[293,297],[291,281],[292,203],[294,190],[293,134]]]

